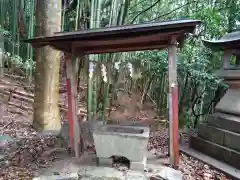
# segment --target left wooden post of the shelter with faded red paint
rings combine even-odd
[[[80,157],[80,127],[77,118],[77,79],[76,63],[72,55],[66,54],[66,74],[67,74],[67,95],[68,95],[68,123],[69,123],[69,145],[74,148],[75,156]]]

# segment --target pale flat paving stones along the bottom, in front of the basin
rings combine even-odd
[[[121,172],[109,167],[81,166],[78,172],[60,175],[42,175],[33,180],[182,180],[179,171],[168,167],[156,167],[158,172]]]

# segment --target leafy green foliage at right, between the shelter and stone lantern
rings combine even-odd
[[[226,86],[214,75],[214,72],[222,67],[222,52],[210,51],[201,41],[218,39],[239,27],[239,1],[163,0],[148,9],[156,1],[133,1],[129,13],[130,19],[134,18],[135,23],[181,18],[199,19],[203,22],[202,26],[197,28],[196,34],[187,39],[185,46],[178,53],[180,119],[181,122],[185,121],[186,125],[193,126],[196,119],[204,119],[205,115],[211,113],[217,90],[226,89]],[[139,15],[137,18],[136,14]],[[140,52],[134,59],[142,60],[144,66],[142,73],[146,76],[153,73],[161,78],[161,73],[167,73],[165,52]],[[231,63],[234,63],[234,59],[231,59]],[[162,82],[156,81],[156,83],[159,84],[154,86],[158,87],[159,91]]]

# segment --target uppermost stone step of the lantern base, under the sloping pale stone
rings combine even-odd
[[[209,116],[207,124],[240,134],[240,116],[217,112]]]

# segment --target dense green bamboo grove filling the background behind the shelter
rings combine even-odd
[[[8,73],[25,76],[29,83],[36,73],[36,52],[23,38],[35,36],[37,0],[0,1],[0,37]],[[48,2],[48,0],[42,0]],[[58,1],[58,0],[56,0]],[[53,2],[53,0],[51,0]],[[196,35],[179,52],[180,121],[195,126],[212,112],[226,87],[213,75],[222,65],[220,53],[204,48],[201,39],[219,38],[239,28],[237,0],[62,0],[62,31],[120,26],[145,21],[192,18],[202,20]],[[91,55],[77,61],[76,76],[86,83],[88,117],[108,120],[108,109],[121,91],[150,98],[161,115],[167,114],[167,54],[146,51]],[[60,67],[55,67],[60,68]]]

